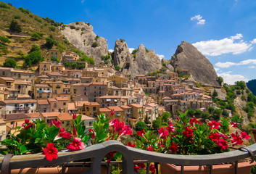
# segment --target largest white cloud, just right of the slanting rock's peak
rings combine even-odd
[[[236,34],[230,38],[220,40],[200,41],[193,43],[194,46],[207,56],[220,56],[221,54],[241,54],[252,49],[252,44],[256,43],[256,38],[253,41],[241,40],[242,34]]]

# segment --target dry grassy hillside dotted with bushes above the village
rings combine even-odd
[[[21,35],[25,34],[26,36],[19,36],[18,38],[12,37],[10,38],[11,43],[7,44],[8,50],[10,51],[9,54],[4,55],[0,57],[0,65],[3,65],[3,62],[7,58],[15,59],[18,63],[18,65],[22,65],[23,61],[22,59],[17,59],[16,57],[19,56],[17,54],[17,51],[22,51],[25,54],[28,54],[28,51],[30,50],[30,47],[33,43],[37,44],[38,46],[41,46],[42,56],[44,57],[46,55],[47,49],[44,46],[44,43],[46,43],[45,39],[46,37],[49,37],[50,35],[52,38],[54,38],[55,41],[60,43],[62,45],[63,49],[74,49],[75,46],[73,46],[72,43],[65,43],[65,36],[60,33],[60,30],[58,27],[55,27],[55,31],[51,31],[49,27],[53,26],[50,23],[46,22],[43,18],[39,17],[36,14],[25,14],[20,11],[20,9],[17,9],[16,7],[9,6],[9,9],[6,8],[0,8],[0,36],[13,36],[12,33],[9,33],[9,24],[12,20],[15,19],[15,16],[19,15],[20,19],[15,19],[22,27]],[[41,19],[42,22],[38,22],[35,18]],[[45,33],[44,38],[39,41],[31,41],[30,40],[30,34],[34,32],[42,32]],[[56,48],[57,46],[54,46],[53,48]]]

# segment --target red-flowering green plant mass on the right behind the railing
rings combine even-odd
[[[230,128],[236,124],[229,125],[228,119],[205,124],[186,117],[187,112],[179,113],[175,127],[169,123],[158,134],[151,130],[137,131],[136,148],[170,154],[215,154],[228,152],[228,146],[242,145],[244,138],[250,138],[246,132],[231,133]]]

